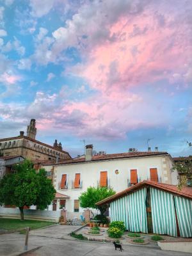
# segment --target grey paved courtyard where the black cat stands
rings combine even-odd
[[[67,234],[74,226],[53,226],[41,230],[33,230],[29,235],[29,250],[22,255],[28,256],[191,256],[191,253],[161,251],[157,247],[123,245],[124,251],[115,251],[113,244],[94,243],[72,240]],[[0,255],[16,256],[24,252],[25,236],[21,234],[4,234],[0,236]],[[39,248],[38,248],[39,247]]]

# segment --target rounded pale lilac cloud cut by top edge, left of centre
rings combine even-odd
[[[33,17],[42,17],[49,13],[54,4],[54,0],[31,0],[31,15]]]

